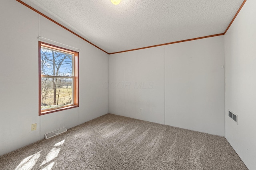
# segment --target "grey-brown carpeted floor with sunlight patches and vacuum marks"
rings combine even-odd
[[[107,114],[0,156],[1,170],[247,170],[224,137]]]

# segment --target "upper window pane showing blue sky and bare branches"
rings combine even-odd
[[[74,55],[41,48],[42,75],[73,76],[72,58]]]

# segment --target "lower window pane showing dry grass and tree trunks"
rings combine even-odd
[[[73,104],[72,78],[42,78],[41,109]]]

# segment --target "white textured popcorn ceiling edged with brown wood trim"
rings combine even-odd
[[[108,53],[224,33],[243,0],[22,0]],[[50,37],[47,37],[50,38]]]

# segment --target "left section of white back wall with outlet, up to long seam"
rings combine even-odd
[[[164,46],[110,55],[109,112],[164,124],[163,65]]]

